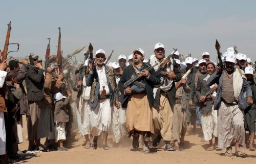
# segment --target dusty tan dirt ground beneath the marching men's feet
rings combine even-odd
[[[26,125],[25,121],[24,123]],[[110,150],[103,150],[101,140],[98,142],[97,150],[92,148],[84,149],[85,139],[80,137],[77,130],[74,130],[72,137],[69,138],[69,142],[66,145],[69,151],[41,152],[34,157],[27,157],[27,159],[18,163],[255,163],[256,152],[245,150],[248,154],[246,158],[226,157],[224,156],[224,150],[207,152],[205,150],[207,142],[201,142],[200,128],[198,127],[197,129],[199,132],[196,135],[186,134],[186,146],[183,150],[166,152],[162,149],[164,146],[161,144],[161,148],[151,149],[152,153],[150,154],[143,154],[141,149],[133,149],[131,146],[132,140],[129,138],[125,139],[123,144],[115,144],[113,135],[108,139],[111,146]],[[25,139],[26,133],[27,129],[25,126],[24,143],[19,144],[20,150],[28,148],[28,142]],[[44,140],[41,143],[44,143]]]

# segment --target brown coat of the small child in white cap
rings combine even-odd
[[[69,97],[63,102],[63,101],[58,101],[55,104],[55,109],[54,109],[54,122],[55,123],[67,123],[69,122],[69,115],[68,110],[66,109],[66,105],[69,104]]]

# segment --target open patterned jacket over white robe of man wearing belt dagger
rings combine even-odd
[[[118,100],[118,89],[116,84],[116,78],[114,75],[114,68],[108,65],[104,65],[105,67],[105,74],[106,74],[106,81],[108,82],[109,90],[110,90],[110,106],[113,106],[113,102]],[[86,79],[86,85],[92,86],[91,87],[91,94],[90,94],[90,106],[92,108],[96,108],[99,99],[99,78],[96,67],[94,67],[94,71],[89,73]]]

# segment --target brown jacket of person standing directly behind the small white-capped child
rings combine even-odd
[[[40,108],[51,108],[52,107],[52,95],[59,92],[61,86],[60,80],[55,80],[52,75],[46,74],[44,84],[44,98],[40,101]]]

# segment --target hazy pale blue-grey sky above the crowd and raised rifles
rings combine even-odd
[[[67,1],[1,0],[0,48],[4,48],[7,24],[12,21],[10,42],[18,42],[14,57],[33,52],[44,60],[48,37],[56,54],[58,27],[61,49],[66,56],[92,42],[111,61],[142,48],[146,58],[161,42],[166,54],[173,48],[184,55],[201,58],[208,51],[216,61],[215,39],[224,53],[237,45],[238,52],[256,60],[256,1]],[[87,49],[87,48],[86,48]],[[9,46],[16,50],[16,46]],[[94,51],[94,52],[95,52]],[[82,53],[77,54],[82,59]]]

